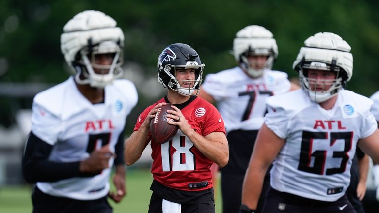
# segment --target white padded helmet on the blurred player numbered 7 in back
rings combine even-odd
[[[278,57],[278,46],[273,34],[266,28],[250,25],[236,33],[233,41],[233,55],[242,69],[253,78],[263,75],[264,69],[271,69]],[[268,56],[262,69],[253,69],[247,59],[248,55]]]

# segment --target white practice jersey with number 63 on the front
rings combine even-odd
[[[343,196],[357,141],[377,128],[372,103],[347,90],[339,91],[330,110],[303,90],[267,99],[265,124],[286,140],[273,163],[271,187],[321,201]]]

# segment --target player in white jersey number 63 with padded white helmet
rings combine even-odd
[[[350,46],[330,32],[317,33],[304,44],[293,63],[302,90],[267,99],[240,213],[254,212],[274,160],[263,213],[356,213],[345,191],[357,146],[379,160],[373,102],[343,89],[352,76]]]

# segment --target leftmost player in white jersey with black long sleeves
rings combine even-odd
[[[23,157],[25,179],[36,183],[33,213],[111,213],[107,196],[125,196],[124,128],[138,96],[116,80],[123,46],[123,31],[103,12],[83,11],[64,26],[61,50],[76,75],[33,100]]]

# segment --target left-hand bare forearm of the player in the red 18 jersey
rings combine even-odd
[[[139,129],[133,132],[124,144],[124,160],[127,166],[133,165],[142,155],[150,141],[148,129]]]

